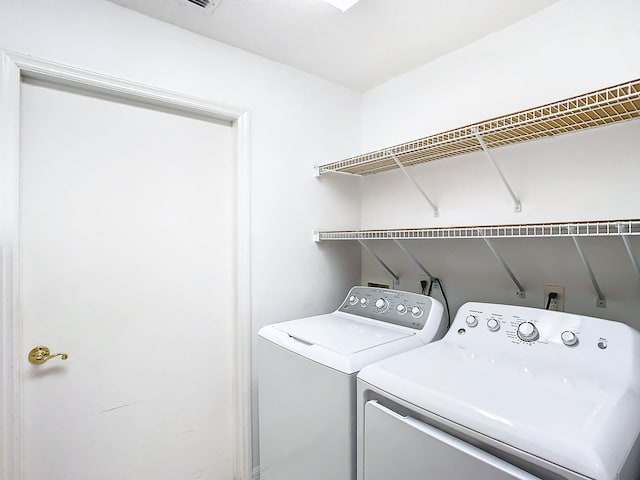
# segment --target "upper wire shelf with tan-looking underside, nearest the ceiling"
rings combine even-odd
[[[398,165],[391,153],[404,166],[411,166],[481,151],[476,133],[489,148],[495,148],[637,118],[640,79],[321,165],[318,174],[370,175],[394,170]]]

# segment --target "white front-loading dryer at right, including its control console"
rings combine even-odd
[[[640,478],[640,334],[467,303],[358,375],[359,480]]]

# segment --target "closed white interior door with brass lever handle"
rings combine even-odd
[[[31,81],[21,112],[26,480],[231,479],[233,128]]]

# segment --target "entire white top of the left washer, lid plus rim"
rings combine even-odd
[[[416,330],[334,312],[267,325],[258,335],[309,360],[353,374],[424,345]]]

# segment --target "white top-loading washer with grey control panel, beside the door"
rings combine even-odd
[[[356,374],[442,338],[442,304],[353,287],[328,315],[258,332],[261,480],[354,480]]]

